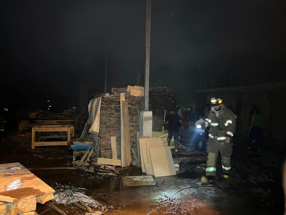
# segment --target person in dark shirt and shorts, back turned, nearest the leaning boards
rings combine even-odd
[[[170,115],[166,118],[165,125],[169,125],[169,132],[168,132],[168,146],[170,146],[171,140],[174,136],[175,140],[175,152],[178,152],[178,144],[179,144],[179,135],[180,135],[180,127],[181,129],[184,129],[184,126],[182,126],[182,120],[180,116],[177,114],[176,109],[170,110]]]

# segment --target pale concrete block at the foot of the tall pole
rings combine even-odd
[[[140,111],[139,136],[152,137],[152,111]]]

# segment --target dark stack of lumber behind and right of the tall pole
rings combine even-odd
[[[164,110],[169,111],[176,107],[176,95],[171,87],[149,88],[149,110],[153,115],[164,115]]]

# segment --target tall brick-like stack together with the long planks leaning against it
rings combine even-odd
[[[137,151],[138,112],[143,110],[143,99],[131,95],[131,91],[102,96],[99,123],[99,157],[102,164],[118,165],[119,160],[122,167],[128,167],[135,160],[130,155],[130,148]],[[110,161],[114,159],[116,161]]]

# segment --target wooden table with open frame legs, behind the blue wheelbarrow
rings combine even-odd
[[[72,126],[70,124],[36,123],[35,125],[32,125],[32,149],[35,149],[35,146],[67,146],[71,139],[71,129]],[[35,142],[36,132],[57,132],[57,131],[66,131],[67,141]]]

